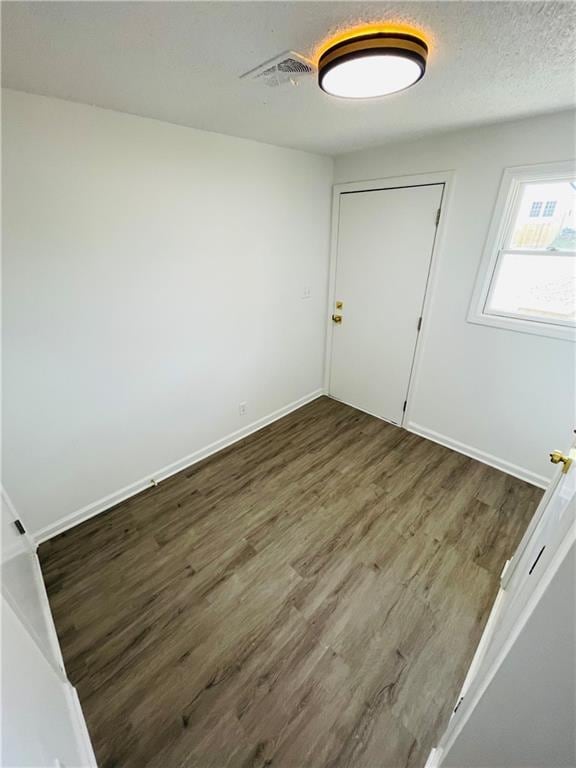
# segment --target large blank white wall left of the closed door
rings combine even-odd
[[[332,161],[15,91],[3,120],[4,484],[46,534],[318,391]]]

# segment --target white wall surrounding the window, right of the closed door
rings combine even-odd
[[[335,181],[454,170],[409,426],[544,484],[576,426],[575,345],[467,314],[503,169],[571,159],[574,114],[457,131],[336,158]],[[461,445],[457,445],[460,443]]]

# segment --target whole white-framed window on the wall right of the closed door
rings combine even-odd
[[[573,164],[505,172],[468,319],[576,338]]]

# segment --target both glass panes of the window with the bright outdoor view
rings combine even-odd
[[[576,324],[576,180],[523,182],[484,312]]]

